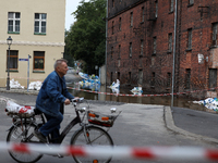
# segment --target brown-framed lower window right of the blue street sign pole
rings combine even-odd
[[[34,70],[44,71],[45,68],[45,51],[34,51]]]

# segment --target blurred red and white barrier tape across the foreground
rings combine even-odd
[[[45,154],[74,154],[80,156],[100,156],[113,159],[166,159],[166,160],[207,160],[218,161],[218,149],[204,149],[196,147],[71,147],[46,146],[33,143],[4,143],[0,142],[0,150],[16,152],[40,152]]]

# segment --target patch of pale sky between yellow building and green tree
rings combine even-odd
[[[65,29],[69,30],[71,24],[75,22],[75,18],[73,15],[71,15],[74,11],[76,11],[77,5],[81,5],[82,0],[65,0]],[[88,2],[89,0],[85,0],[85,2]]]

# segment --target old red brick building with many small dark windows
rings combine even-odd
[[[174,0],[108,0],[108,85],[118,78],[121,86],[171,92],[174,10]],[[178,0],[175,92],[217,87],[217,25],[218,1]]]

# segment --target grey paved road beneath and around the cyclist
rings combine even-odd
[[[36,96],[21,95],[21,93],[7,93],[0,92],[0,98],[7,98],[14,100],[19,104],[34,104]],[[210,139],[202,139],[202,136],[192,135],[189,133],[184,125],[184,128],[178,128],[179,125],[183,122],[186,122],[187,117],[183,114],[179,114],[174,111],[171,114],[169,106],[162,105],[148,105],[148,104],[130,104],[130,103],[117,103],[117,102],[99,102],[99,101],[89,101],[90,108],[96,111],[108,113],[110,108],[117,108],[119,111],[122,111],[121,115],[117,118],[113,127],[109,130],[109,134],[113,138],[113,141],[117,146],[194,146],[194,147],[208,147],[215,148],[217,143],[209,141]],[[5,141],[7,138],[7,128],[11,125],[11,118],[8,117],[3,110],[4,103],[1,103],[0,111],[0,141]],[[203,112],[203,115],[207,114]],[[189,113],[191,114],[191,113]],[[189,115],[187,114],[187,115]],[[191,115],[194,115],[192,113]],[[208,114],[209,116],[210,114]],[[171,117],[170,117],[171,116]],[[185,120],[177,121],[178,116],[184,116]],[[214,116],[214,114],[211,114]],[[74,117],[74,112],[72,106],[68,105],[65,108],[64,121],[62,127],[68,124]],[[194,116],[198,117],[198,116]],[[173,121],[173,118],[177,118]],[[174,126],[174,122],[175,125]],[[76,127],[77,128],[77,127]],[[76,129],[75,128],[75,129]],[[197,128],[197,127],[196,127]],[[69,145],[69,140],[75,130],[73,129],[64,139],[63,143]],[[202,130],[202,128],[198,128]],[[213,128],[211,128],[213,129]],[[196,129],[197,130],[197,129]],[[186,131],[186,133],[183,133]],[[192,129],[191,129],[192,131]],[[206,131],[205,131],[206,133]],[[208,136],[208,135],[207,135]],[[206,138],[206,137],[204,137]],[[214,139],[211,139],[214,140]],[[215,139],[216,140],[216,139]],[[0,153],[1,161],[8,163],[15,163],[7,151]],[[71,156],[65,156],[63,159],[58,159],[49,155],[45,155],[38,163],[48,163],[48,162],[58,162],[70,163],[73,162]],[[112,163],[190,163],[191,161],[140,161],[140,160],[112,160]],[[206,161],[201,161],[206,162]],[[191,163],[199,163],[199,161],[192,161]]]

